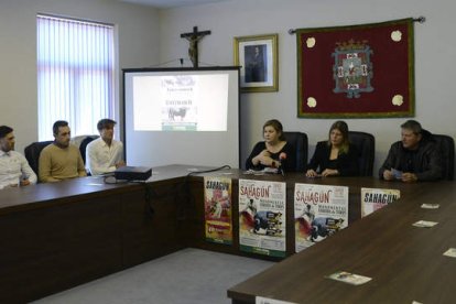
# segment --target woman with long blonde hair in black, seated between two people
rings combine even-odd
[[[329,140],[317,143],[305,175],[316,177],[358,174],[358,150],[348,141],[348,126],[345,121],[336,121],[329,129]]]

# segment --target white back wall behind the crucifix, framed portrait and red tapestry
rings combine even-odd
[[[415,23],[415,118],[425,129],[456,138],[456,98],[453,84],[456,64],[453,0],[232,0],[224,3],[161,11],[161,61],[187,57],[188,44],[180,34],[210,30],[199,43],[199,61],[215,65],[234,64],[234,37],[279,33],[279,91],[243,94],[241,97],[241,156],[246,159],[261,140],[262,123],[280,119],[290,131],[308,134],[312,155],[318,140],[327,137],[335,119],[296,118],[296,37],[289,29],[350,25],[424,15]],[[377,139],[376,166],[384,160],[390,144],[400,137],[405,118],[346,119],[351,130],[366,131]]]

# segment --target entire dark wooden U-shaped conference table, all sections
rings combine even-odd
[[[232,303],[256,303],[257,296],[292,303],[454,302],[456,259],[443,252],[456,248],[455,183],[194,172],[206,169],[154,167],[146,183],[107,184],[89,176],[1,191],[0,303],[33,301],[186,247],[269,259],[239,250],[239,178],[286,183],[286,258],[230,287]],[[205,240],[203,176],[232,180],[231,246]],[[349,226],[298,253],[295,183],[349,187]],[[401,198],[360,219],[361,187],[397,188]],[[422,203],[441,207],[422,209]],[[412,226],[420,219],[438,224]],[[326,278],[336,271],[372,280],[355,286]]]

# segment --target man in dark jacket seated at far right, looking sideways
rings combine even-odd
[[[442,154],[431,132],[415,120],[405,121],[401,128],[402,140],[391,145],[380,167],[380,178],[402,182],[442,178]]]

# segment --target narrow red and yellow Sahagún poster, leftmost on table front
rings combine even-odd
[[[206,240],[232,243],[231,178],[204,177]]]

